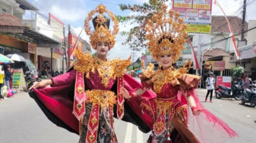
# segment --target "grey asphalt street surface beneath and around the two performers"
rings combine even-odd
[[[197,89],[201,101],[206,90]],[[226,143],[256,143],[256,108],[243,106],[231,99],[202,102],[238,134]],[[150,133],[142,133],[131,123],[115,120],[119,143],[146,143]],[[211,128],[209,128],[211,130]],[[51,123],[28,93],[0,102],[0,143],[77,143],[79,136]]]

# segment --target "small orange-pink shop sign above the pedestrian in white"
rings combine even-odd
[[[211,70],[211,71],[225,70],[225,61],[205,61],[204,69]]]

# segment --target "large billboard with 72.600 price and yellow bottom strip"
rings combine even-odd
[[[212,0],[172,0],[172,9],[187,24],[186,32],[211,33]]]

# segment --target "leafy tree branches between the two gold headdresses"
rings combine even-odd
[[[136,24],[136,26],[131,28],[131,30],[128,32],[121,31],[122,36],[127,36],[127,39],[125,42],[122,42],[122,44],[129,44],[131,49],[137,51],[147,48],[145,39],[145,26],[147,24],[147,20],[151,19],[152,15],[161,9],[162,3],[167,1],[168,0],[149,0],[148,3],[143,3],[142,5],[120,4],[119,7],[122,11],[131,10],[132,12],[139,13],[139,15],[132,16],[117,16],[117,20],[120,23]]]

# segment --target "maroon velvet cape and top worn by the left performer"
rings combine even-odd
[[[70,132],[79,134],[79,120],[73,112],[74,106],[74,85],[76,78],[76,70],[52,78],[53,85],[45,88],[34,89],[30,92],[30,96],[35,99],[40,108],[43,110],[48,119],[56,125],[63,127]],[[128,91],[134,91],[141,86],[139,82],[128,75],[124,75],[124,88]],[[100,83],[101,79],[97,70],[95,73],[90,72],[90,79],[84,78],[85,90],[100,89],[105,91],[117,91],[116,80],[111,79],[107,87]],[[122,120],[131,122],[139,127],[142,132],[149,132],[152,128],[152,119],[142,114],[139,108],[141,101],[154,98],[155,95],[147,91],[143,98],[134,98],[124,103],[124,117]],[[116,106],[114,106],[114,117],[116,115]]]

